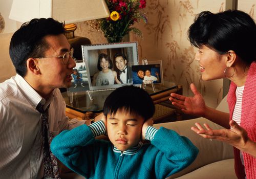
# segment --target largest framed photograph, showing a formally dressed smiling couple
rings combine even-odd
[[[90,91],[133,84],[128,63],[139,64],[137,42],[84,45],[82,54]]]

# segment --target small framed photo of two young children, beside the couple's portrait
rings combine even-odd
[[[160,64],[132,65],[133,84],[161,83]]]

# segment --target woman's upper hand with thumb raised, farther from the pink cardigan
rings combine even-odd
[[[193,83],[190,84],[190,88],[194,93],[194,97],[171,93],[169,100],[172,101],[174,106],[180,108],[183,113],[203,117],[206,110],[204,99]]]

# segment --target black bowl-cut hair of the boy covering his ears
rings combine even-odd
[[[152,98],[144,89],[133,85],[122,86],[113,91],[105,100],[103,114],[115,115],[117,110],[124,109],[127,113],[150,119],[155,113]]]

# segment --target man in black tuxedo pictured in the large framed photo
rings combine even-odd
[[[117,71],[117,79],[121,83],[131,83],[132,82],[132,76],[131,68],[127,68],[127,58],[125,57],[124,54],[117,53],[115,56],[115,64],[116,68],[118,69]]]

